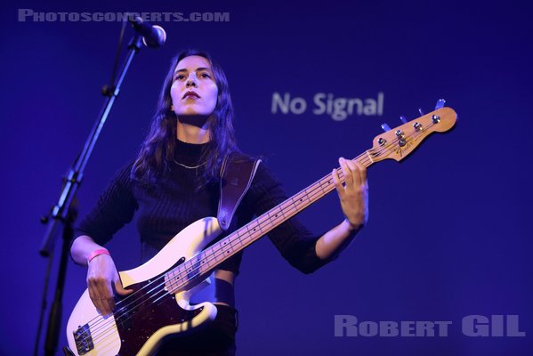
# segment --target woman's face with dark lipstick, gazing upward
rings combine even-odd
[[[185,57],[174,69],[170,88],[173,110],[184,115],[209,116],[216,107],[218,88],[211,64],[204,57]]]

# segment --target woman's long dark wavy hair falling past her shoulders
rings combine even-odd
[[[177,117],[171,109],[170,88],[178,62],[193,55],[204,57],[209,61],[214,72],[214,82],[218,88],[216,106],[207,121],[210,141],[206,144],[206,150],[204,150],[201,158],[201,161],[206,161],[206,169],[202,175],[201,183],[217,181],[224,158],[231,152],[238,151],[233,131],[234,114],[230,88],[222,67],[206,52],[193,49],[184,50],[174,57],[166,75],[149,134],[142,142],[139,156],[133,164],[132,177],[135,180],[156,183],[169,171],[174,159],[177,140]]]

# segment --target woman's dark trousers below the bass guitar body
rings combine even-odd
[[[215,305],[216,318],[206,328],[168,339],[157,356],[234,356],[238,312],[227,305]]]

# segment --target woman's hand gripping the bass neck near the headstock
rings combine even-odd
[[[339,163],[343,169],[344,184],[336,169],[332,172],[333,182],[346,221],[350,223],[351,229],[359,230],[368,220],[367,168],[359,162],[344,158],[339,158]]]

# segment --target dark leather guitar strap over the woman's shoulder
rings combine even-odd
[[[220,200],[216,218],[223,231],[230,227],[233,214],[245,196],[254,180],[257,167],[261,159],[248,158],[239,153],[233,153],[222,164],[222,179],[220,183]]]

